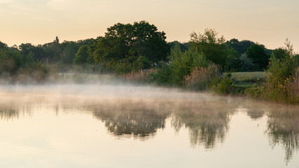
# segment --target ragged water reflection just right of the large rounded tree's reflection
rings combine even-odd
[[[223,142],[228,131],[233,105],[228,102],[183,102],[176,107],[172,126],[179,131],[186,127],[190,132],[190,144],[214,148]]]

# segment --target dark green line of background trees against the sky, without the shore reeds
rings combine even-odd
[[[281,58],[286,54],[284,48],[269,50],[253,41],[235,38],[225,41],[215,29],[205,29],[202,34],[193,32],[188,43],[167,43],[165,32],[145,21],[132,25],[117,23],[97,38],[61,43],[56,37],[53,42],[43,45],[22,43],[11,48],[0,42],[0,49],[16,50],[22,57],[32,55],[36,62],[57,64],[59,71],[68,65],[97,64],[106,71],[129,73],[150,69],[159,62],[169,62],[175,45],[179,45],[182,52],[196,50],[202,53],[223,71],[263,71],[267,69],[270,57]]]

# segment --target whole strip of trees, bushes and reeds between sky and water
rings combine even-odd
[[[226,41],[215,29],[204,29],[191,33],[187,43],[167,42],[164,31],[141,21],[117,23],[104,36],[81,41],[56,37],[43,45],[11,47],[0,42],[0,83],[55,83],[67,73],[90,73],[299,104],[298,62],[288,39],[270,50],[249,40]]]

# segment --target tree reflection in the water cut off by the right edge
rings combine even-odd
[[[286,164],[293,153],[299,150],[299,113],[298,107],[279,106],[268,114],[267,134],[272,146],[282,144]]]

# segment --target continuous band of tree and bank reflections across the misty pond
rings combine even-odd
[[[138,97],[138,94],[125,97],[125,93],[121,94],[121,97],[97,97],[93,94],[92,97],[75,97],[72,94],[59,94],[55,97],[52,95],[51,99],[39,95],[23,102],[15,99],[18,96],[11,96],[9,101],[0,101],[0,118],[15,120],[22,114],[33,116],[34,113],[41,113],[40,108],[56,113],[57,118],[60,113],[85,113],[96,118],[97,123],[102,121],[104,129],[113,134],[113,137],[133,137],[139,140],[155,138],[158,130],[171,126],[176,132],[187,130],[187,139],[190,139],[193,148],[203,146],[204,149],[211,150],[228,137],[230,119],[237,109],[242,108],[243,115],[254,120],[251,122],[267,116],[267,126],[262,129],[265,130],[271,146],[284,147],[286,162],[290,162],[295,151],[299,150],[298,106],[265,106],[246,102],[244,99],[206,97],[205,94],[190,94],[192,97],[187,97],[177,94],[176,97],[159,94],[156,97],[147,95],[142,98]],[[167,119],[171,121],[171,125],[166,125]]]

